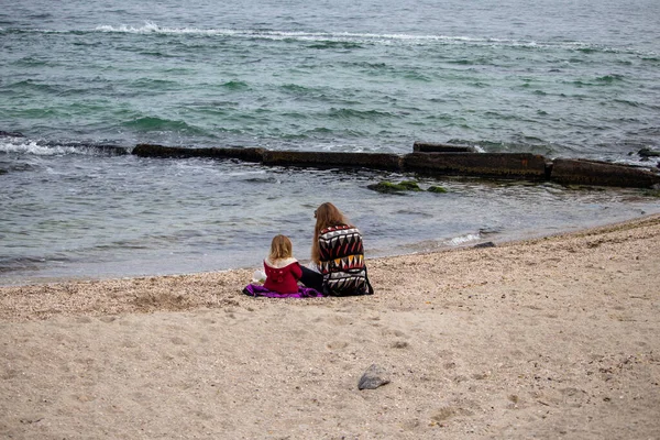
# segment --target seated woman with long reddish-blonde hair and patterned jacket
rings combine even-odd
[[[302,267],[300,282],[326,295],[371,295],[366,276],[362,235],[344,215],[330,202],[314,212],[316,226],[311,261],[319,272]]]

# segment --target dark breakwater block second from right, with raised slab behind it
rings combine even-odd
[[[529,153],[410,153],[404,156],[404,168],[432,174],[542,179],[546,158]]]

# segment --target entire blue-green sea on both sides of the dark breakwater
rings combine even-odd
[[[406,154],[419,142],[657,169],[657,0],[0,0],[0,285],[366,256],[660,212],[631,188],[141,158],[139,143]],[[428,191],[384,195],[381,180]]]

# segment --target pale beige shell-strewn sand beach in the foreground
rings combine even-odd
[[[372,297],[0,288],[0,438],[658,439],[659,250],[652,216],[370,260]],[[372,364],[391,382],[358,389]]]

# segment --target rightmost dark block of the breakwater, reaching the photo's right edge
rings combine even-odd
[[[650,188],[660,183],[660,174],[649,169],[607,162],[557,158],[552,180],[564,185],[601,185]]]

